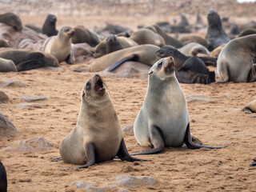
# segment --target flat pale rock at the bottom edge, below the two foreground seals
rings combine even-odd
[[[126,186],[130,188],[135,188],[138,186],[155,186],[157,180],[151,176],[138,176],[134,177],[130,174],[127,175],[118,175],[115,177],[117,180],[118,186]]]

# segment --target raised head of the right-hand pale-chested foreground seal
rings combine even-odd
[[[151,67],[149,75],[158,77],[161,80],[166,77],[173,77],[175,71],[175,60],[173,57],[161,58],[158,62],[154,63]]]

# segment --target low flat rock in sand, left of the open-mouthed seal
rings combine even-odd
[[[47,142],[45,138],[36,137],[30,138],[26,141],[20,141],[6,148],[6,152],[15,151],[15,152],[38,152],[43,150],[50,150],[50,147],[53,145],[50,142]]]

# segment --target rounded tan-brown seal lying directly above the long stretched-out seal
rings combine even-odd
[[[151,44],[161,47],[166,44],[162,36],[148,29],[140,29],[135,31],[130,35],[130,39],[134,40],[134,42],[137,42],[138,45]]]

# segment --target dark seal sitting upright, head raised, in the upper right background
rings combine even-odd
[[[212,51],[218,46],[230,42],[230,38],[228,38],[225,30],[222,28],[222,20],[214,10],[209,11],[207,20],[206,39],[208,42],[208,50]]]

